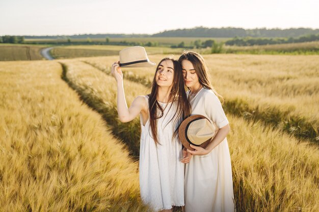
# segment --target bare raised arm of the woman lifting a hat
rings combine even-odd
[[[112,75],[117,82],[117,112],[121,122],[130,122],[142,111],[142,115],[147,114],[147,102],[142,96],[137,97],[127,108],[124,87],[123,87],[123,73],[118,63],[112,65]]]

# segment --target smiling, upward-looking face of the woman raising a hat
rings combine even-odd
[[[174,80],[174,64],[171,60],[163,60],[162,63],[158,65],[155,80],[158,86],[172,86]]]

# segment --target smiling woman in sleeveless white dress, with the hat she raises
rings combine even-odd
[[[117,111],[121,122],[141,118],[140,190],[141,199],[155,211],[171,211],[172,205],[184,205],[184,164],[177,126],[190,115],[191,106],[184,89],[177,60],[164,58],[157,65],[151,93],[138,96],[127,108],[123,74],[120,67],[151,66],[143,47],[120,52],[120,61],[112,65],[117,81]]]

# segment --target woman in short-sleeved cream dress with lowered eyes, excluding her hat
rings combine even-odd
[[[222,97],[212,87],[209,72],[200,54],[184,51],[178,61],[182,66],[185,85],[190,89],[187,94],[192,115],[203,115],[218,127],[217,134],[206,147],[190,144],[187,152],[192,157],[182,160],[187,163],[184,211],[234,211],[231,162],[226,139],[229,125],[219,100]],[[207,126],[205,122],[203,124]]]

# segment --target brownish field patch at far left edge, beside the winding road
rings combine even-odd
[[[9,60],[39,60],[41,49],[44,45],[25,45],[25,44],[0,44],[0,61]]]

